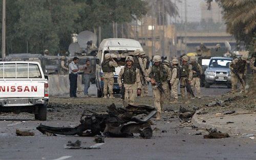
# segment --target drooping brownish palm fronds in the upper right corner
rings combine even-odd
[[[208,9],[213,0],[205,0]],[[250,44],[256,33],[256,2],[255,0],[215,0],[223,9],[227,32],[239,41]]]

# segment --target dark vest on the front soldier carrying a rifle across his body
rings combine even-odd
[[[167,71],[165,70],[162,63],[160,63],[158,66],[153,64],[150,78],[155,79],[157,82],[165,82],[167,77]]]

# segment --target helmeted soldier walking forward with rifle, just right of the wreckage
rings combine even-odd
[[[156,82],[162,85],[164,92],[168,88],[170,80],[170,70],[167,66],[164,66],[161,62],[161,57],[156,55],[153,57],[154,64],[148,68],[148,74],[146,80],[151,82],[153,95],[154,95],[154,106],[157,108],[156,120],[160,120],[161,110],[163,107],[164,93],[161,93],[158,87],[154,87]]]

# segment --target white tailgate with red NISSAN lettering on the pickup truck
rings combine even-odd
[[[45,89],[44,80],[1,80],[1,98],[42,98]]]

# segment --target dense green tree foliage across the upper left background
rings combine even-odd
[[[7,53],[25,53],[28,43],[30,53],[48,49],[56,55],[58,50],[68,50],[72,33],[106,24],[110,28],[113,21],[130,22],[146,11],[142,0],[8,0]]]

